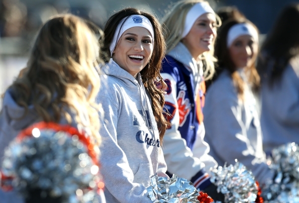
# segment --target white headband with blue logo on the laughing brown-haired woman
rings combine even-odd
[[[144,27],[147,30],[149,30],[149,33],[152,37],[152,43],[153,43],[153,39],[154,39],[153,28],[152,28],[152,25],[151,25],[149,19],[143,15],[130,15],[128,18],[122,19],[115,30],[113,40],[109,47],[111,56],[112,56],[112,53],[117,45],[118,40],[122,36],[122,34],[127,29],[130,29],[132,27]]]

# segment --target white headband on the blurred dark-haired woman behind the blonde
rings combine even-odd
[[[257,29],[249,23],[240,23],[232,26],[227,34],[227,47],[230,47],[233,41],[241,35],[250,35],[255,42],[259,42],[259,34]]]

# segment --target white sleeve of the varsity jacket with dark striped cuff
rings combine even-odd
[[[166,69],[163,68],[163,71]],[[178,130],[179,126],[179,109],[176,100],[176,80],[173,75],[161,73],[166,81],[171,93],[165,95],[165,104],[171,105],[174,109],[171,118],[171,128],[167,129],[163,137],[163,153],[167,164],[167,171],[171,174],[177,174],[178,177],[190,180],[195,188],[204,189],[210,185],[208,174],[204,170],[204,163],[193,156],[192,151],[186,145],[185,139],[181,137]]]

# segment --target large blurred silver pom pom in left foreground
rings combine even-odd
[[[6,148],[2,174],[14,177],[12,185],[26,197],[28,190],[41,189],[64,203],[97,201],[101,178],[87,147],[68,132],[34,128],[31,137],[12,141]]]

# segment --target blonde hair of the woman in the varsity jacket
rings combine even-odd
[[[191,7],[204,0],[181,0],[178,1],[162,19],[162,27],[164,31],[164,37],[166,39],[167,53],[169,53],[182,39],[182,33],[185,26],[186,15],[191,9]],[[207,1],[205,1],[207,2]],[[208,3],[208,2],[207,2]],[[216,22],[217,27],[221,25],[221,20],[217,14]],[[215,39],[214,39],[215,41]],[[204,70],[205,80],[209,80],[213,77],[215,72],[214,62],[216,58],[214,57],[214,41],[213,48],[210,51],[204,52],[200,59],[205,62],[206,68]]]

